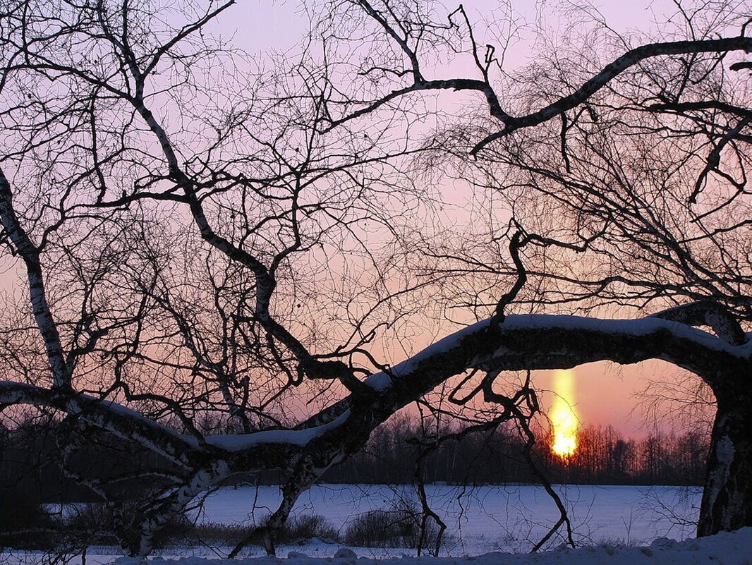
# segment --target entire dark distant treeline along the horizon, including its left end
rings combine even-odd
[[[44,502],[98,500],[85,486],[61,470],[56,435],[59,424],[26,424],[12,430],[0,427],[0,495],[22,489]],[[535,483],[538,478],[523,456],[523,442],[516,431],[462,434],[461,427],[432,427],[402,416],[374,431],[365,449],[329,469],[323,482],[405,484],[419,476],[425,482],[453,484]],[[461,439],[441,439],[444,436]],[[111,436],[92,433],[66,464],[89,477],[113,481],[117,497],[150,490],[144,478],[123,481],[124,473],[141,466],[168,470],[158,456],[139,451]],[[708,438],[699,433],[652,433],[644,439],[625,439],[613,427],[585,427],[576,453],[561,460],[550,453],[545,438],[532,449],[532,459],[550,481],[602,485],[702,485]],[[424,457],[421,458],[420,454]],[[418,466],[418,461],[421,461]],[[248,475],[233,483],[274,484],[276,473]],[[231,483],[232,484],[232,483]],[[2,496],[0,496],[2,498]]]

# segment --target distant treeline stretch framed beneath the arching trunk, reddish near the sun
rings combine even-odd
[[[442,430],[438,437],[461,429]],[[461,435],[461,434],[460,434]],[[426,433],[409,418],[374,431],[366,448],[329,469],[323,477],[338,483],[409,483],[421,449],[405,438],[429,444]],[[552,482],[595,485],[702,485],[709,437],[697,432],[650,433],[627,439],[614,427],[584,427],[572,457],[562,460],[541,437],[532,459]],[[511,429],[474,433],[460,440],[435,441],[420,475],[425,482],[499,484],[538,482],[524,443]]]

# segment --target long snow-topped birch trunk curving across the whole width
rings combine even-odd
[[[323,436],[337,444],[361,433],[467,369],[566,369],[597,360],[638,363],[662,359],[700,375],[709,384],[729,371],[747,374],[752,343],[732,345],[702,330],[663,317],[609,320],[569,315],[508,315],[500,324],[482,320],[365,380],[376,394],[351,395],[352,406],[317,425],[197,438],[151,421],[115,402],[66,390],[0,381],[0,404],[49,406],[131,439],[181,466],[202,466],[206,456],[227,460],[229,472],[287,466]],[[339,406],[343,402],[337,402]],[[324,411],[326,412],[326,410]],[[334,433],[334,436],[330,436]],[[326,443],[326,442],[325,442]]]

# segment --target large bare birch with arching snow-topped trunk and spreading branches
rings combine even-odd
[[[35,326],[47,360],[4,351],[13,378],[0,406],[44,407],[170,462],[127,518],[132,554],[148,554],[201,491],[280,469],[283,502],[263,530],[273,553],[299,494],[447,379],[464,375],[447,387],[456,404],[482,398],[493,424],[524,423],[535,393],[527,381],[502,390],[504,372],[594,360],[667,360],[710,384],[718,417],[699,533],[752,524],[747,221],[735,208],[749,110],[743,93],[723,96],[726,53],[752,50],[744,27],[621,44],[602,69],[541,60],[548,81],[499,79],[518,105],[542,105],[513,117],[494,51],[481,53],[462,8],[433,20],[421,2],[335,2],[315,41],[267,71],[205,35],[232,2],[178,6],[9,1],[0,39],[2,237],[27,281],[23,330]],[[739,23],[717,13],[730,14],[724,32]],[[477,77],[429,78],[422,59],[441,50],[469,56]],[[420,95],[431,90],[478,93],[490,117],[426,141],[433,114]],[[633,166],[620,160],[629,143]],[[465,244],[420,245],[438,264],[425,272],[392,263],[433,196],[409,174],[414,153],[453,156],[508,195],[514,229],[490,233],[505,264]],[[561,211],[558,226],[536,223],[544,203]],[[605,266],[559,270],[570,254]],[[494,281],[490,299],[472,289],[458,300],[483,319],[387,365],[376,340],[426,314],[422,289],[461,274]],[[530,302],[636,313],[511,314]],[[643,315],[652,305],[671,308]],[[301,406],[311,397],[315,409]],[[238,433],[205,433],[200,418],[217,413]]]

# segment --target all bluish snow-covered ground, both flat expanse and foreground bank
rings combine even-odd
[[[557,487],[567,501],[575,526],[575,541],[582,548],[561,547],[562,539],[548,546],[552,551],[529,555],[538,540],[556,519],[556,509],[541,488],[531,485],[483,486],[465,490],[448,485],[429,485],[432,506],[447,522],[449,539],[441,558],[415,557],[405,548],[344,548],[341,544],[313,540],[305,545],[281,546],[277,555],[290,565],[693,565],[715,562],[722,565],[752,565],[752,528],[722,534],[712,539],[686,539],[693,536],[699,489],[675,487]],[[388,508],[398,498],[409,500],[408,486],[319,485],[299,500],[296,514],[319,514],[339,528],[347,527],[353,516],[372,509]],[[197,501],[191,511],[199,522],[225,524],[258,523],[279,500],[275,487],[223,488]],[[670,539],[669,539],[670,538]],[[686,539],[678,542],[676,540]],[[277,558],[264,557],[260,548],[249,548],[241,560],[218,559],[229,548],[172,548],[153,557],[154,565],[276,565]],[[499,551],[509,552],[501,554]],[[468,557],[470,556],[470,557]],[[119,557],[116,548],[89,548],[86,565],[101,563],[135,565]],[[0,554],[2,565],[50,563],[41,554]],[[81,563],[74,557],[73,563]]]

